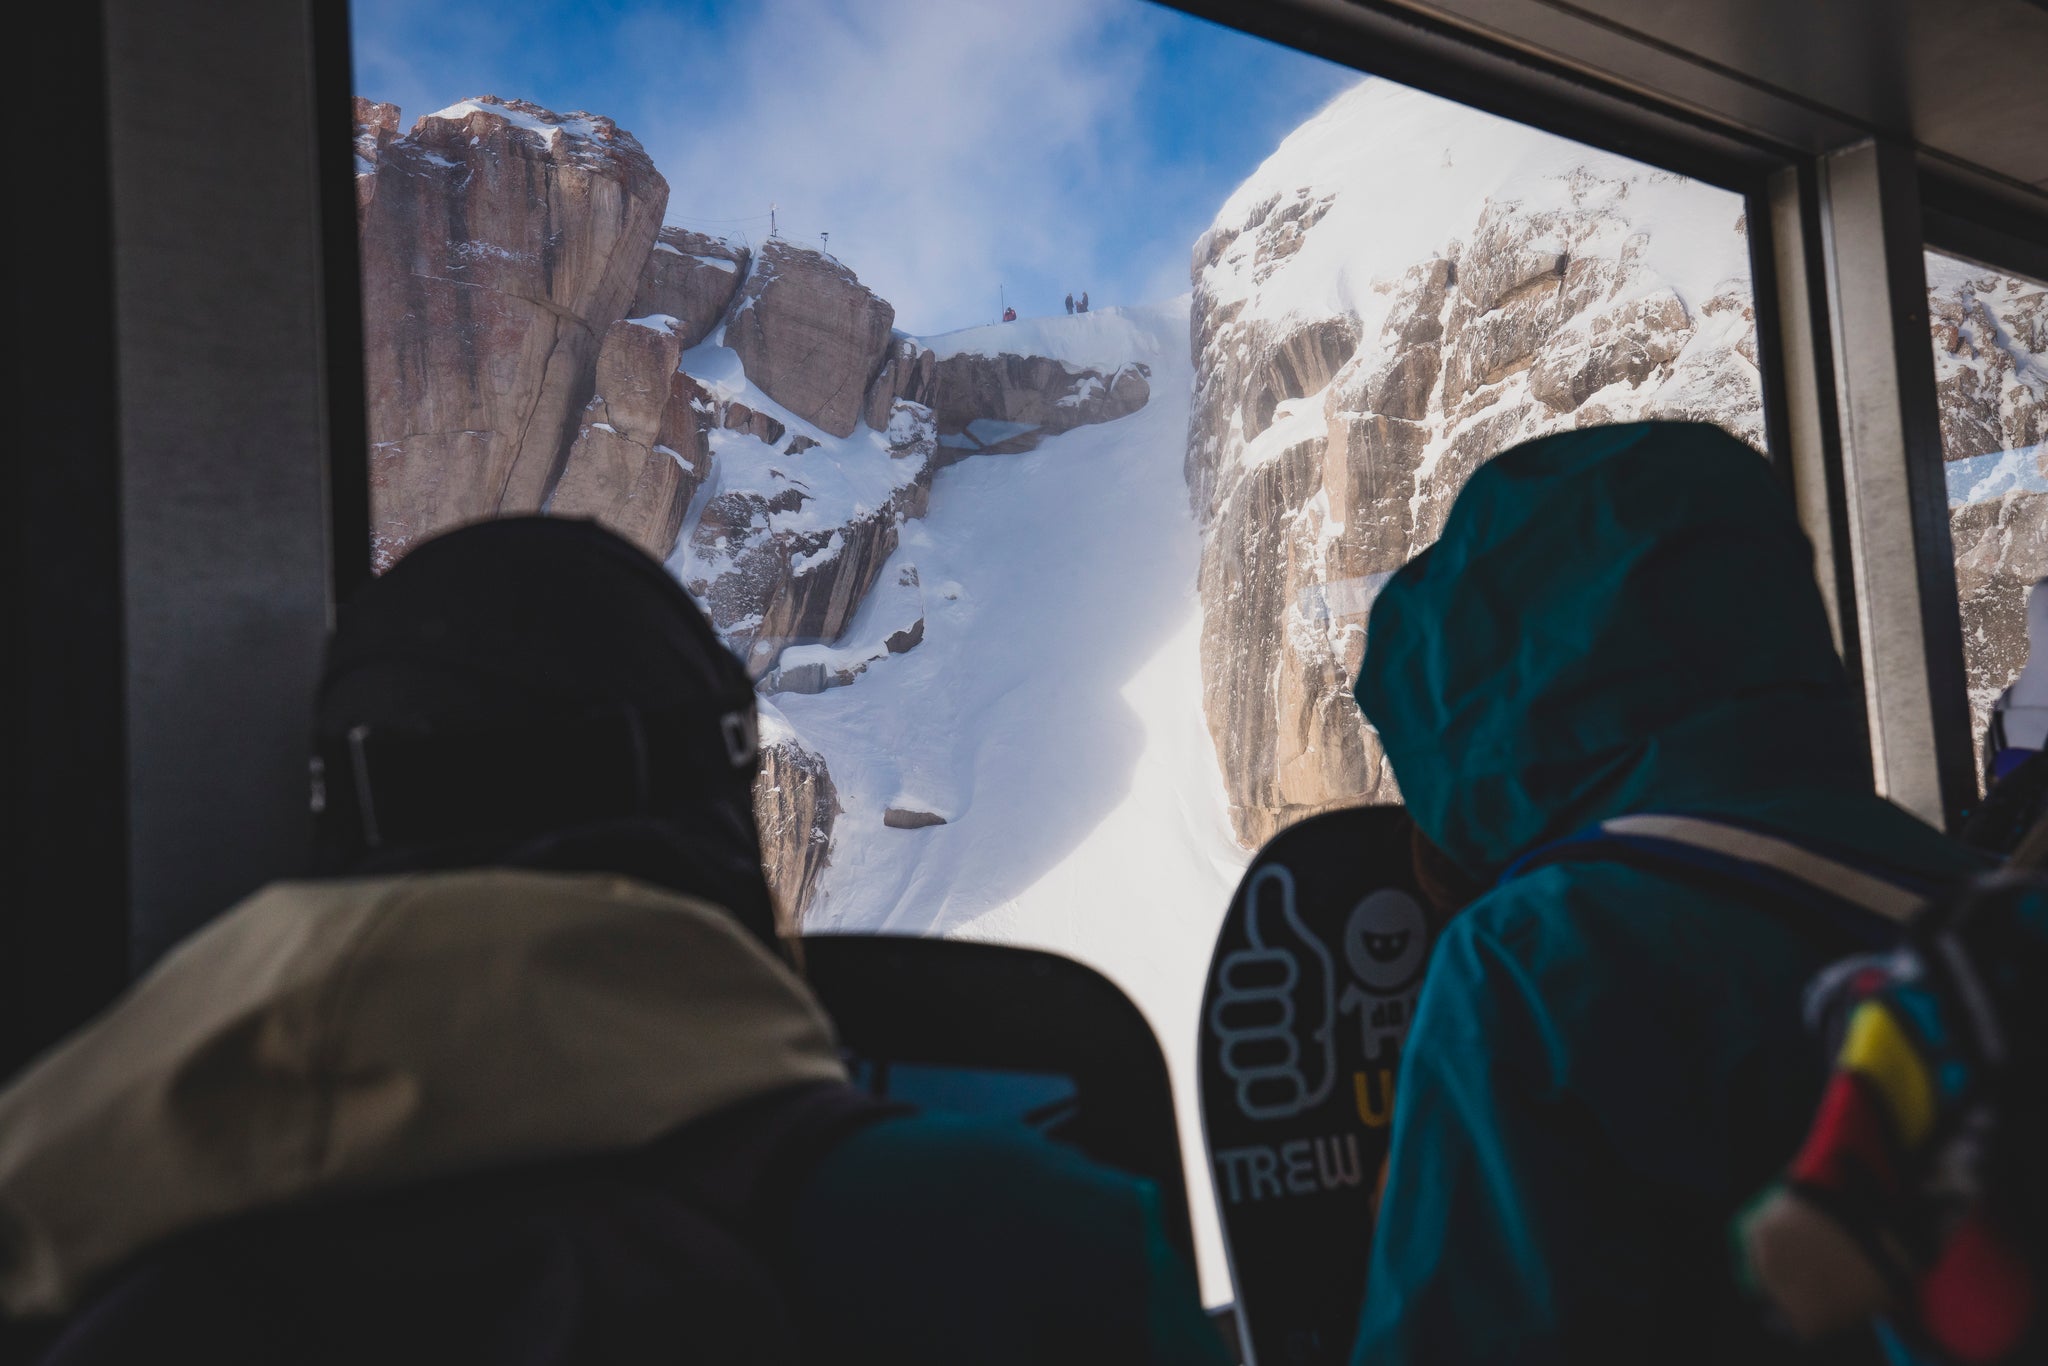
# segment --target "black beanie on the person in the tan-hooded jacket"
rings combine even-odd
[[[649,555],[596,522],[465,526],[340,608],[317,864],[612,870],[774,942],[754,735],[745,670]]]

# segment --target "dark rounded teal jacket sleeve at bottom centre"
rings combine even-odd
[[[911,1116],[825,1157],[795,1208],[834,1360],[1225,1366],[1159,1196],[1018,1124]]]

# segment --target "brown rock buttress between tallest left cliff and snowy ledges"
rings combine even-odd
[[[702,389],[676,371],[682,336],[668,317],[612,324],[598,350],[598,393],[547,510],[588,516],[668,559],[690,500],[711,475]]]

